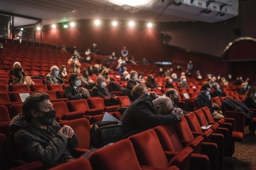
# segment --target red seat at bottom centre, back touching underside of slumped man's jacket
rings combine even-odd
[[[184,148],[177,154],[176,152],[164,152],[156,132],[152,129],[132,135],[128,139],[132,141],[140,165],[159,169],[167,169],[175,165],[179,169],[189,169],[190,156],[193,152],[190,147]],[[171,159],[167,159],[166,154]]]

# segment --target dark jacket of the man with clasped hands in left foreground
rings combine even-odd
[[[12,119],[10,130],[14,133],[14,143],[19,157],[26,162],[41,161],[45,167],[74,160],[71,152],[78,144],[76,134],[72,139],[68,139],[58,133],[61,127],[56,121],[47,127],[48,130],[34,128],[23,114]]]

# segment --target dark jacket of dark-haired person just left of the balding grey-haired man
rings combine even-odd
[[[80,95],[79,92],[74,89],[74,86],[69,85],[66,86],[64,90],[65,97],[68,98],[70,101],[79,100],[79,99],[88,99],[90,97],[89,91],[87,92],[87,95]]]

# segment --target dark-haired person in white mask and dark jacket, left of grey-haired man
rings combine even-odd
[[[69,86],[65,88],[65,97],[70,101],[79,100],[79,99],[88,99],[91,97],[89,91],[86,88],[80,87],[81,80],[77,73],[70,74],[68,78]]]

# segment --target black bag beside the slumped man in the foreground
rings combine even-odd
[[[91,126],[91,148],[102,148],[122,139],[124,130],[117,121],[95,122]]]

